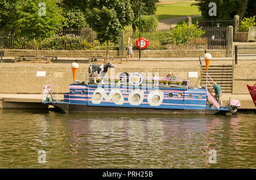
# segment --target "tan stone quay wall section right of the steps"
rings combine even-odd
[[[256,83],[256,62],[251,64],[234,65],[233,94],[248,94],[248,85]]]

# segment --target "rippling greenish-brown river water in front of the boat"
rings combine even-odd
[[[0,168],[256,168],[256,114],[0,110]]]

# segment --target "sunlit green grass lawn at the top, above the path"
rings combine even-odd
[[[158,20],[201,14],[196,6],[191,6],[192,3],[174,2],[172,4],[158,4],[156,5]]]

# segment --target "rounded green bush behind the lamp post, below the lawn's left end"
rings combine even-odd
[[[139,18],[135,20],[134,24],[139,29]],[[156,27],[158,27],[158,19],[155,17],[155,15],[141,16],[142,31],[154,30]]]

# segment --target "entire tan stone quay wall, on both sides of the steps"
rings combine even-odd
[[[141,62],[143,64],[143,62]],[[166,67],[125,67],[126,63],[115,68],[115,75],[121,72],[158,73],[165,77],[168,72],[175,72],[179,78],[188,78],[188,72],[198,72],[198,78],[191,78],[191,85],[200,85],[200,65],[198,62],[182,62],[177,66],[168,62]],[[234,65],[234,94],[249,94],[246,84],[256,83],[256,62]],[[46,71],[46,77],[36,77],[37,71]],[[110,71],[109,71],[110,72]],[[77,70],[77,80],[86,80],[88,64],[81,63]],[[110,75],[110,73],[109,73]],[[70,64],[66,63],[0,63],[0,93],[42,93],[42,86],[53,84],[59,87],[59,93],[68,92],[73,81]]]

